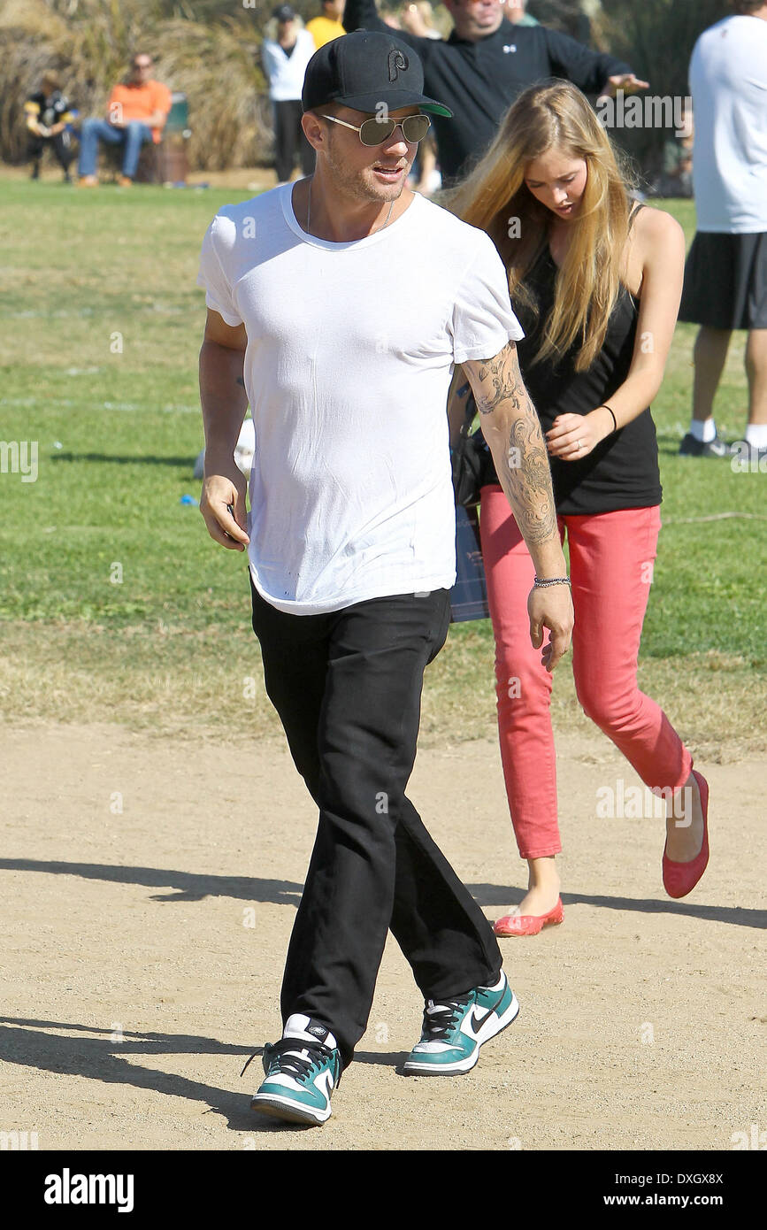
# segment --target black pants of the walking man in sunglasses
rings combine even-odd
[[[290,938],[283,1022],[316,1017],[344,1065],[368,1025],[391,927],[425,999],[494,983],[490,924],[406,798],[424,668],[450,621],[445,589],[286,615],[253,589],[267,692],[320,807]]]

